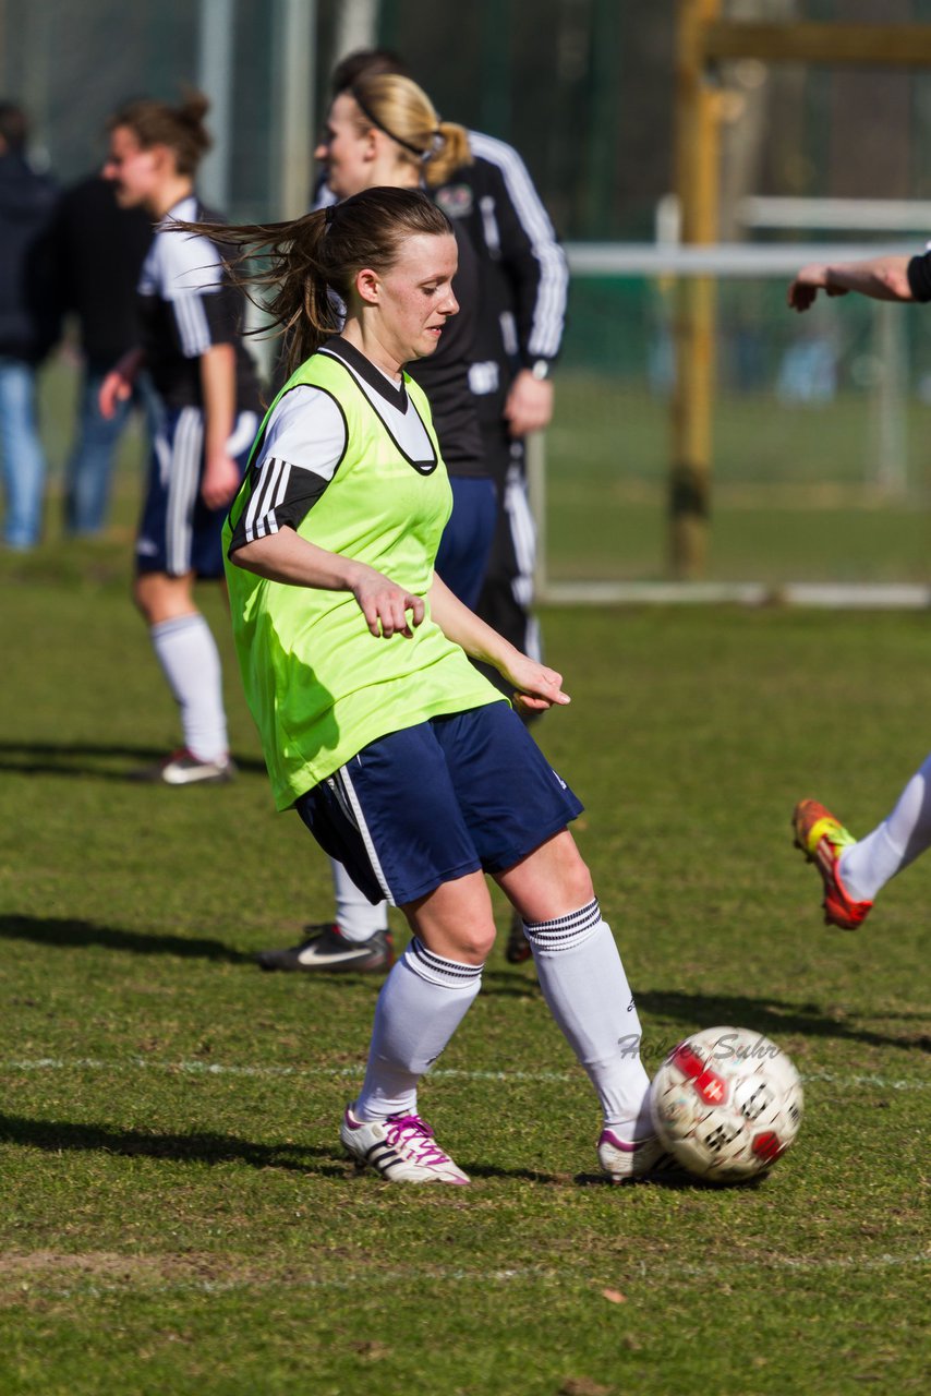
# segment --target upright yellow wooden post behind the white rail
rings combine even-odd
[[[676,190],[684,243],[717,239],[717,95],[705,75],[703,35],[720,0],[678,0],[676,52]],[[676,295],[676,389],[670,477],[673,575],[705,571],[715,392],[715,283],[683,276]]]

